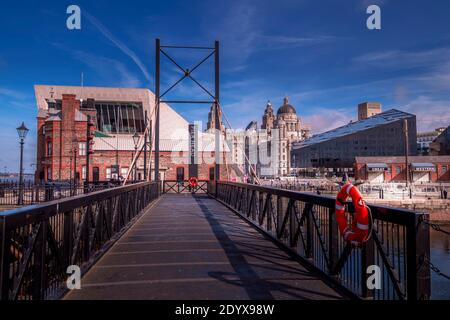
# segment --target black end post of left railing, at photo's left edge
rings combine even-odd
[[[0,300],[8,300],[10,272],[10,239],[7,236],[6,217],[0,217]]]

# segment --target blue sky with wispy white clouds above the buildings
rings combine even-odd
[[[66,8],[81,7],[81,30],[66,28]],[[366,8],[381,7],[381,30],[366,28]],[[450,124],[450,2],[2,1],[0,4],[0,170],[18,168],[15,128],[25,121],[25,169],[35,162],[34,84],[154,89],[154,39],[163,44],[221,43],[221,103],[233,127],[261,121],[284,95],[321,132],[356,118],[356,105],[379,101],[418,116],[420,130]],[[169,52],[169,51],[168,51]],[[180,55],[193,66],[204,52]],[[212,62],[212,61],[211,61]],[[212,64],[195,75],[213,88]],[[177,79],[163,60],[162,82]],[[186,81],[171,97],[200,98]],[[174,105],[190,121],[208,108]]]

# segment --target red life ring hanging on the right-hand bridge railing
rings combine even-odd
[[[345,216],[345,202],[347,198],[352,198],[355,207],[355,215],[352,225],[349,226]],[[364,202],[359,190],[351,183],[346,183],[338,195],[335,203],[336,221],[339,226],[339,232],[344,240],[354,244],[361,244],[367,241],[369,237],[369,209]]]

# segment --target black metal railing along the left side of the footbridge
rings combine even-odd
[[[87,270],[158,196],[142,182],[0,213],[1,299],[60,296],[68,266]]]

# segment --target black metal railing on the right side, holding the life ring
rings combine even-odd
[[[373,231],[362,247],[339,235],[335,199],[313,194],[218,182],[216,198],[262,229],[306,265],[354,297],[379,300],[417,300],[430,297],[429,215],[369,205]],[[347,204],[348,211],[353,206]],[[349,219],[351,215],[349,214]],[[381,287],[367,281],[378,267]]]

